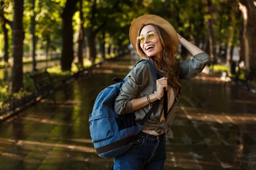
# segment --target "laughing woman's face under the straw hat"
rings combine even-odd
[[[153,40],[149,40],[146,37],[148,32],[151,31],[155,32]],[[142,48],[143,52],[148,57],[156,57],[157,59],[160,59],[161,51],[163,50],[163,45],[161,44],[159,34],[157,34],[157,30],[154,28],[154,26],[144,26],[140,32],[140,36],[141,35],[145,36],[144,42],[140,44],[140,47]]]

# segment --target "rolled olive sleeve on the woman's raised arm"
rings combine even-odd
[[[190,61],[177,63],[180,79],[192,79],[204,70],[204,67],[213,62],[206,52],[196,54]]]

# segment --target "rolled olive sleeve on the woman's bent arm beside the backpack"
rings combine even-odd
[[[128,75],[128,80],[120,88],[120,93],[115,99],[115,111],[122,115],[132,113],[133,108],[131,100],[135,99],[137,94],[148,83],[148,67],[145,63],[140,62],[133,71]]]

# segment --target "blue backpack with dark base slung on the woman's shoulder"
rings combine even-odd
[[[157,80],[158,77],[161,77],[147,59],[141,59],[134,67],[144,60],[150,64],[155,79]],[[115,99],[119,95],[120,88],[127,81],[128,75],[124,80],[119,78],[112,79],[117,83],[105,88],[99,93],[93,106],[93,112],[90,114],[90,136],[96,153],[103,158],[108,159],[125,153],[137,141],[138,133],[142,126],[160,101],[157,100],[155,105],[139,123],[134,121],[134,113],[123,114],[121,116],[116,114],[114,111]]]

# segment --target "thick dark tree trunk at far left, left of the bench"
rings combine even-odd
[[[14,0],[14,20],[12,30],[12,92],[18,92],[23,88],[23,3],[24,0]]]

